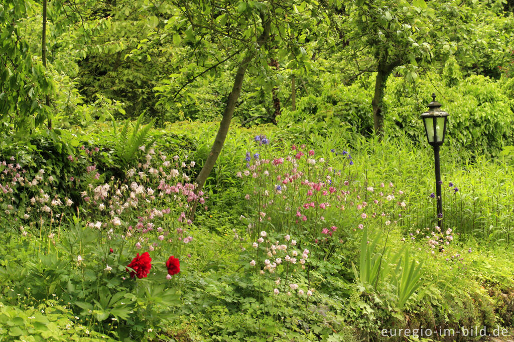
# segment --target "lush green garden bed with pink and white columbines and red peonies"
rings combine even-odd
[[[70,336],[115,340],[361,340],[386,338],[384,327],[512,325],[512,265],[502,257],[512,209],[469,200],[493,189],[508,198],[511,182],[461,185],[478,171],[443,153],[453,184],[440,229],[431,172],[421,167],[431,158],[426,148],[321,136],[309,146],[276,129],[232,133],[231,157],[215,176],[226,190],[207,186],[202,197],[188,185],[201,146],[163,154],[155,140],[115,176],[95,166],[109,139],[81,145],[68,155],[74,168],[60,187],[52,186],[60,170],[8,158],[5,310],[32,317],[57,306],[60,317],[68,312]],[[483,161],[480,172],[510,168]],[[69,197],[74,189],[80,206]],[[188,222],[194,201],[202,208]],[[480,214],[487,211],[493,218]],[[487,235],[485,219],[498,222]],[[10,322],[2,327],[10,338],[59,338],[37,322],[28,330]]]

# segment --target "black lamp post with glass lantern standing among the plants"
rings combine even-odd
[[[439,146],[445,141],[446,122],[448,113],[440,109],[441,104],[435,101],[435,93],[432,94],[432,102],[428,104],[428,110],[421,114],[428,143],[434,148],[435,159],[435,190],[437,196],[437,225],[443,229],[443,202],[441,199],[441,169],[439,163]]]

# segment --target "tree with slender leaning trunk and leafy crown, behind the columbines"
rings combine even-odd
[[[307,60],[306,52],[297,41],[295,32],[299,27],[308,27],[317,9],[305,2],[289,1],[182,1],[174,0],[181,16],[167,29],[183,40],[195,52],[199,74],[215,73],[216,68],[231,60],[236,65],[232,90],[226,100],[223,117],[219,124],[210,153],[196,178],[197,191],[201,191],[221,153],[237,100],[241,94],[247,72],[259,75],[262,84],[269,81],[275,71],[269,65],[269,56],[287,64],[301,64]],[[196,52],[210,51],[209,65],[199,63]],[[200,53],[200,52],[198,52]],[[283,63],[283,62],[282,62]],[[201,71],[199,71],[201,70]],[[188,81],[189,82],[189,81]],[[272,88],[272,85],[271,85]],[[180,92],[183,86],[179,87]],[[191,211],[194,215],[195,208]]]

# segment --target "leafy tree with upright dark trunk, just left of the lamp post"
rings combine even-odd
[[[444,62],[451,54],[461,60],[467,58],[466,63],[470,67],[474,64],[474,68],[479,68],[475,62],[484,61],[484,55],[504,55],[500,51],[506,38],[503,34],[495,36],[502,33],[496,29],[506,29],[509,20],[502,20],[486,5],[480,5],[480,11],[461,0],[328,1],[325,6],[333,14],[338,45],[347,51],[347,59],[354,60],[357,74],[376,73],[372,107],[374,130],[379,134],[383,130],[384,91],[395,69],[415,81],[421,67]],[[484,14],[488,22],[496,20],[495,24],[484,24]],[[470,55],[475,62],[470,63]]]

